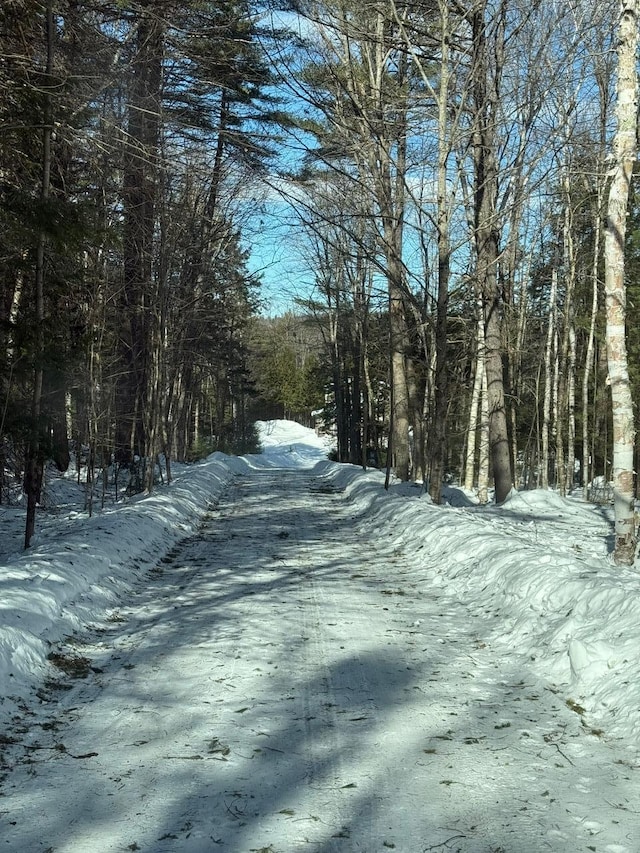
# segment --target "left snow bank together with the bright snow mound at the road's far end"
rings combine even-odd
[[[81,511],[73,479],[48,485],[50,502],[28,552],[21,550],[24,511],[0,506],[0,726],[51,673],[52,645],[104,622],[145,569],[192,535],[234,473],[248,467],[310,467],[326,458],[327,440],[292,422],[261,423],[264,453],[214,453],[174,466],[174,480],[151,495]]]

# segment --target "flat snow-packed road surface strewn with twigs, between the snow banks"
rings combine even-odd
[[[0,850],[635,853],[627,754],[365,521],[319,471],[237,474],[60,649]]]

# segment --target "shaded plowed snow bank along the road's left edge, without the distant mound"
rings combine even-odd
[[[151,495],[90,518],[72,511],[52,519],[28,552],[0,566],[1,723],[50,671],[52,644],[104,621],[143,569],[197,529],[232,476],[223,454],[182,466],[171,485]],[[2,509],[19,542],[21,519],[14,509]]]

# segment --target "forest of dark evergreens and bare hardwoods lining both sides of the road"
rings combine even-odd
[[[0,500],[25,546],[48,465],[149,491],[285,415],[436,502],[614,500],[632,562],[637,16],[4,0]],[[310,282],[279,316],[251,271],[270,219]]]

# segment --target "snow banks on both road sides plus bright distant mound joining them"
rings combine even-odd
[[[234,472],[318,465],[365,538],[409,555],[425,589],[444,588],[484,614],[491,643],[530,662],[585,725],[640,743],[640,582],[610,561],[606,511],[542,491],[479,508],[454,490],[457,506],[435,507],[411,487],[385,492],[381,472],[319,461],[325,449],[309,430],[262,429],[263,455],[215,454],[148,497],[92,518],[57,517],[28,553],[0,566],[0,720],[50,672],[51,644],[104,622],[142,570],[197,529]]]

